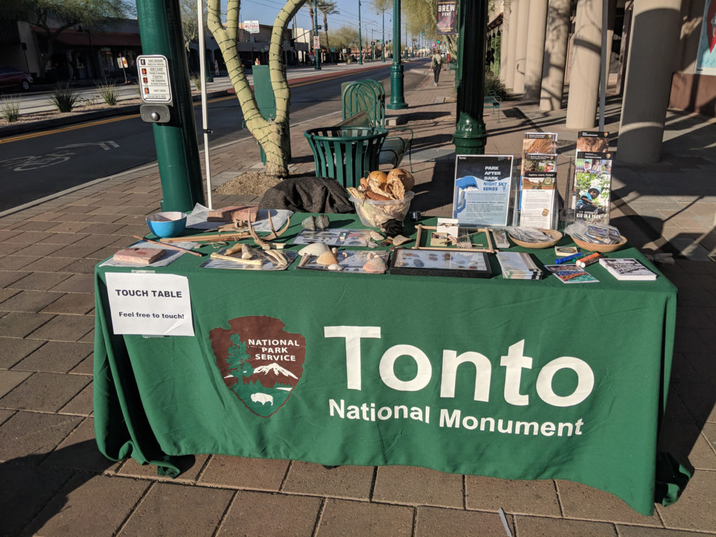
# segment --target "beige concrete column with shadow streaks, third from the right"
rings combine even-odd
[[[571,0],[549,0],[539,100],[540,110],[546,112],[562,107],[570,14]]]

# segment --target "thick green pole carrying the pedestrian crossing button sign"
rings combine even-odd
[[[167,58],[173,94],[170,121],[152,125],[162,185],[161,208],[188,212],[196,203],[204,203],[204,195],[178,0],[137,0],[137,19],[142,53]]]

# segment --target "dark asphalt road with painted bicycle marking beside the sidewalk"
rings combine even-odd
[[[424,66],[422,62],[406,66],[405,91],[422,82],[422,76],[410,73],[416,67]],[[341,83],[367,77],[385,82],[390,88],[390,64],[364,70],[359,77],[355,72],[342,72],[331,79],[289,82],[291,125],[341,110]],[[195,106],[197,135],[203,148],[200,114],[200,106]],[[210,147],[250,136],[241,127],[241,120],[236,96],[211,100]],[[330,118],[329,125],[334,120],[340,117]],[[0,143],[0,211],[154,162],[152,129],[139,115],[123,115],[8,137]]]

